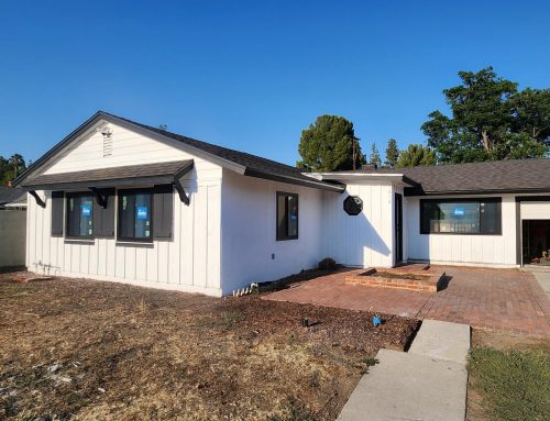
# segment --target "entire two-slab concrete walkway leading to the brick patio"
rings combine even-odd
[[[338,420],[463,421],[469,348],[469,325],[425,321],[408,353],[378,352]]]

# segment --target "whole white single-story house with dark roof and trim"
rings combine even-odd
[[[514,267],[550,247],[546,159],[306,175],[98,112],[14,186],[30,270],[213,296],[327,256]]]

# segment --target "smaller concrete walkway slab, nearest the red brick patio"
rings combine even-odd
[[[409,354],[466,364],[469,350],[468,324],[425,320],[409,348]]]

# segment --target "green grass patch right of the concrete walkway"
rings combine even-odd
[[[550,413],[550,352],[470,351],[469,374],[486,414],[498,421],[542,421]]]

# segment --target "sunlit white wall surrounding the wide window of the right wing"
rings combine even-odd
[[[502,235],[420,234],[420,198],[407,197],[407,254],[410,261],[441,264],[517,266],[517,224],[514,195],[502,197]],[[431,199],[432,197],[430,197]],[[435,198],[435,197],[433,197]],[[441,199],[457,196],[441,196]],[[461,196],[461,198],[463,198]]]

